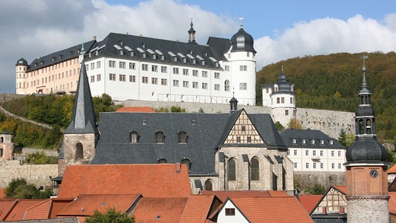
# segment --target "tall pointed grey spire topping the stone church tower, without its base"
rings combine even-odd
[[[65,130],[65,134],[98,134],[94,102],[89,88],[87,70],[84,63],[84,45],[81,47],[82,56],[80,76],[78,78],[76,98],[74,100],[72,122]]]

